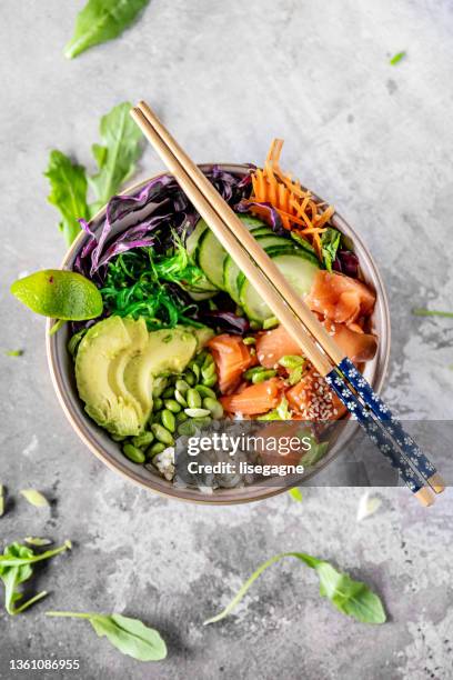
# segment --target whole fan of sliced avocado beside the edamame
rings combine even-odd
[[[153,377],[180,373],[212,337],[210,329],[148,332],[138,321],[109,317],[91,327],[76,357],[76,380],[85,411],[121,437],[139,434],[152,410]]]

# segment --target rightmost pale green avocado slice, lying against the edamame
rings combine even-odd
[[[124,370],[124,384],[148,416],[152,408],[153,376],[180,373],[197,350],[195,336],[183,328],[152,331],[142,352]]]

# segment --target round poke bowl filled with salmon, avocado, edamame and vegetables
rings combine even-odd
[[[200,168],[379,392],[390,353],[379,271],[348,222],[279,174],[278,160],[271,152],[264,169]],[[279,194],[284,182],[289,197]],[[104,313],[47,334],[52,383],[81,441],[127,479],[180,500],[239,503],[288,489],[241,479],[207,492],[174,477],[174,441],[207,421],[345,419],[174,178],[162,173],[129,188],[82,226],[61,268],[95,283]],[[300,481],[329,464],[352,434],[340,429]]]

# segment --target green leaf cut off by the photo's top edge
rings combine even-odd
[[[64,57],[73,59],[95,44],[113,40],[138,19],[149,0],[88,0],[79,12]]]

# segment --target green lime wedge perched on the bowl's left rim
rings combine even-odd
[[[10,291],[37,314],[52,319],[82,321],[102,313],[101,293],[74,271],[43,269],[18,279]]]

